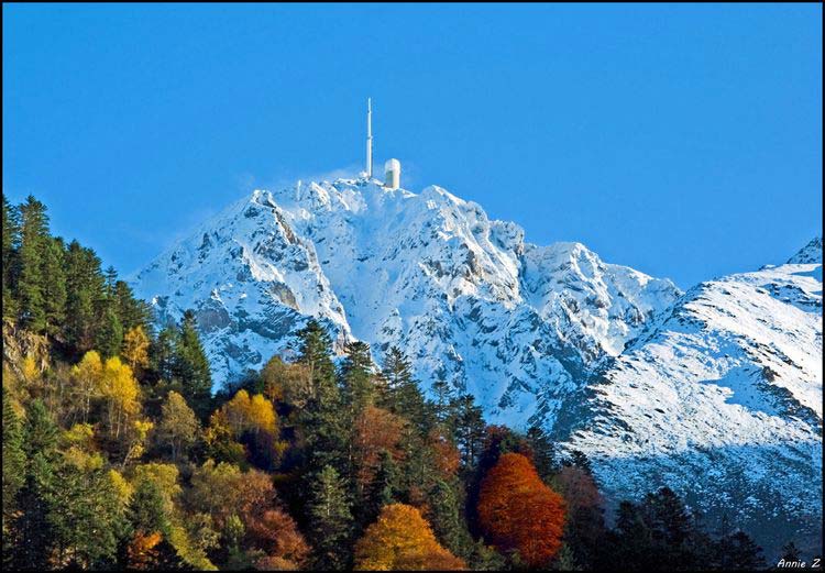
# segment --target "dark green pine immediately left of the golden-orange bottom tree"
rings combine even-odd
[[[309,502],[309,540],[320,571],[350,565],[353,519],[344,481],[327,465],[317,474]]]

